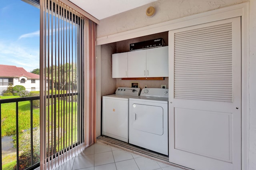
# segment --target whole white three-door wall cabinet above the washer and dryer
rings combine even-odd
[[[168,46],[112,55],[112,77],[168,77]]]

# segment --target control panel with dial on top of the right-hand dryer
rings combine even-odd
[[[168,89],[162,88],[144,88],[142,89],[140,96],[148,96],[148,97],[169,97]]]

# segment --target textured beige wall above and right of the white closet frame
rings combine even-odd
[[[201,12],[222,8],[225,6],[231,6],[249,0],[159,0],[146,6],[141,6],[134,10],[118,14],[109,18],[100,20],[98,26],[97,38],[109,36],[112,34],[118,34],[128,30],[134,30],[136,28],[142,28],[173,20],[175,18],[182,18],[192,14],[198,14]],[[148,18],[145,15],[146,8],[148,6],[154,6],[156,8],[156,14],[152,18]],[[249,68],[248,68],[248,132],[244,136],[249,138],[248,143],[245,144],[245,157],[248,160],[244,161],[242,170],[256,170],[256,1],[250,1],[250,18],[248,18],[249,27],[249,47],[250,54]],[[111,24],[110,24],[111,23]],[[246,50],[246,49],[245,49]],[[117,83],[119,80],[117,80]],[[246,126],[246,125],[245,125]],[[244,160],[244,159],[243,159]]]

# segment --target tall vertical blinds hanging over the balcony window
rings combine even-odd
[[[95,142],[96,24],[59,0],[40,0],[40,169]]]

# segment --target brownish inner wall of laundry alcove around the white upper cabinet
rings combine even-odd
[[[164,80],[122,80],[121,78],[112,79],[112,53],[130,51],[130,43],[142,42],[156,38],[163,38],[165,45],[168,45],[168,32],[101,45],[101,82],[104,82],[101,87],[101,97],[115,93],[117,87],[131,87],[132,82],[138,82],[141,89],[144,88],[145,85],[147,85],[148,88],[160,88],[161,85],[167,85],[168,88],[168,77],[165,77]]]

